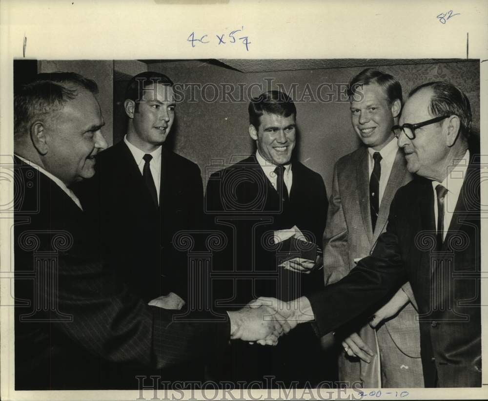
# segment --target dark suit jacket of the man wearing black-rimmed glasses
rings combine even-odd
[[[419,308],[427,387],[481,385],[477,149],[479,146],[470,148],[471,161],[442,253],[435,252],[431,181],[414,179],[397,191],[386,232],[379,237],[373,254],[341,281],[308,296],[318,330],[324,335],[409,280]]]

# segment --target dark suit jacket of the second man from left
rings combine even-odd
[[[159,210],[123,141],[99,153],[96,174],[79,188],[100,226],[103,255],[146,301],[174,292],[187,300],[187,255],[173,246],[179,230],[199,228],[203,185],[198,166],[163,148]]]

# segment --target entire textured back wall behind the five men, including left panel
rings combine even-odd
[[[261,61],[262,64],[265,62]],[[123,88],[114,92],[114,66],[116,73],[122,73],[124,77],[128,73],[154,70],[168,75],[175,83],[187,85],[182,91],[185,101],[177,106],[176,121],[167,145],[200,166],[204,184],[209,172],[215,169],[212,164],[220,163],[218,166],[224,167],[254,151],[248,134],[249,95],[257,96],[261,90],[277,89],[280,84],[286,91],[295,87],[292,97],[297,106],[299,160],[322,174],[328,191],[332,185],[334,163],[360,145],[350,124],[349,104],[347,101],[339,101],[338,92],[344,88],[341,84],[347,84],[363,66],[242,73],[196,60],[149,64],[137,61],[40,61],[40,72],[75,71],[99,84],[98,97],[106,121],[102,129],[109,145],[112,144],[112,138],[117,142],[125,133],[122,130],[124,123],[119,121],[120,114],[114,113],[114,105],[121,100],[117,97],[123,93]],[[379,65],[377,68],[398,78],[405,97],[413,87],[428,81],[445,80],[458,85],[468,95],[473,110],[473,127],[479,132],[478,61]],[[233,85],[235,90],[232,96],[237,102],[229,101],[229,97],[225,99],[222,90],[224,83]],[[206,84],[207,100],[214,98],[216,86],[219,93],[212,102],[206,102],[203,101],[205,96],[202,96],[200,89],[190,89],[188,84]],[[239,84],[244,90],[239,89]],[[322,91],[319,91],[323,100],[329,98],[327,102],[319,99],[318,88],[321,84],[329,84],[322,86]],[[112,116],[117,121],[113,122]],[[117,132],[112,134],[112,127]]]

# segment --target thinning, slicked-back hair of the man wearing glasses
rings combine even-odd
[[[453,84],[443,81],[427,82],[412,89],[409,97],[424,88],[432,90],[432,97],[428,107],[433,117],[456,115],[461,122],[460,133],[464,139],[471,135],[472,114],[469,99],[464,92]]]

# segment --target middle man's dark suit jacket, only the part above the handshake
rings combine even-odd
[[[322,287],[321,272],[299,274],[277,267],[283,250],[273,243],[275,230],[296,225],[320,246],[325,228],[324,180],[300,162],[292,163],[292,172],[288,210],[281,210],[278,193],[254,155],[210,176],[205,194],[207,221],[228,240],[213,263],[222,277],[215,288],[224,290],[214,291],[215,298],[227,299],[225,304],[238,306],[258,296],[293,299],[305,287]]]

